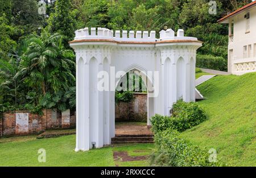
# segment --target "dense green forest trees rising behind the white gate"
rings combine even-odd
[[[60,110],[75,107],[75,57],[68,41],[76,29],[86,26],[156,32],[164,26],[183,28],[185,35],[204,42],[197,66],[226,70],[228,27],[216,21],[250,0],[217,0],[217,14],[209,14],[208,0],[43,2],[46,14],[38,13],[37,0],[0,0],[2,110],[26,104]]]

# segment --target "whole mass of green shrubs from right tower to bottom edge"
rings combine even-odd
[[[172,116],[155,115],[151,119],[156,150],[150,156],[151,165],[157,166],[218,166],[209,159],[208,151],[194,146],[180,135],[205,121],[207,115],[196,103],[177,101]]]

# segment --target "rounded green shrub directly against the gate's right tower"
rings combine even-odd
[[[172,116],[156,114],[151,118],[152,131],[167,130],[168,128],[184,131],[207,119],[207,114],[195,102],[184,102],[179,100],[172,106]]]

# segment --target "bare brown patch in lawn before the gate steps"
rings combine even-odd
[[[147,159],[147,156],[129,156],[127,151],[114,151],[113,157],[115,161],[120,162],[133,162]]]

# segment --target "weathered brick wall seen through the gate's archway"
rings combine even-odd
[[[134,100],[115,104],[115,121],[147,122],[147,93],[134,93]]]

